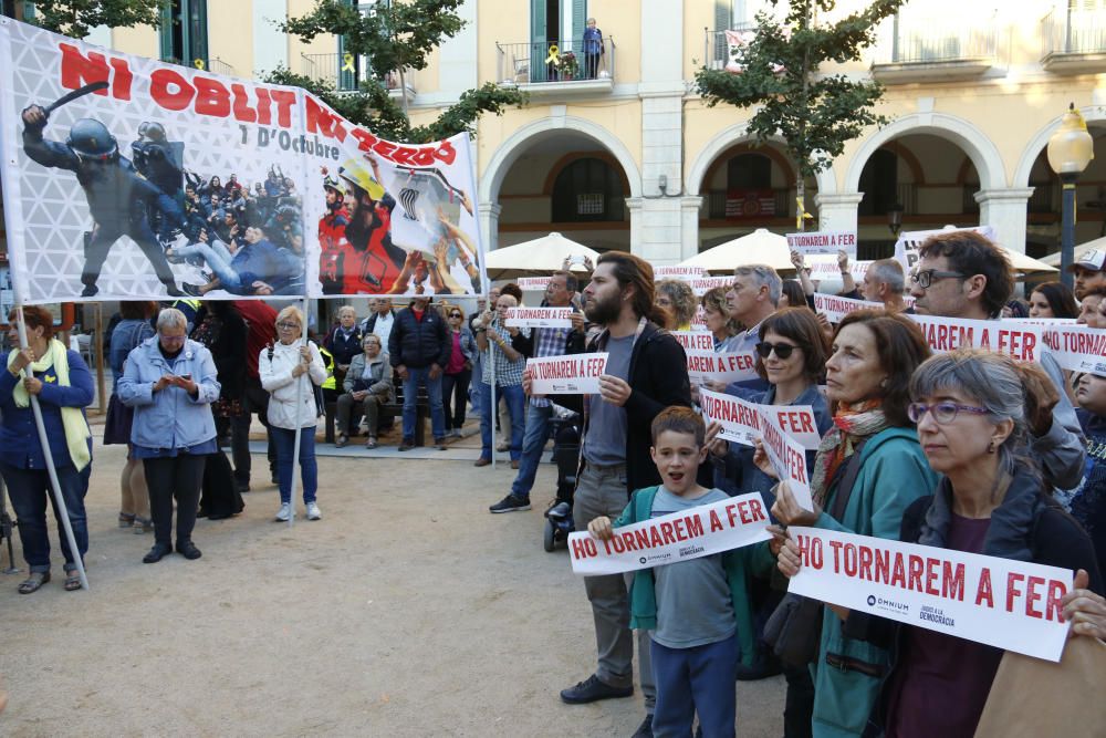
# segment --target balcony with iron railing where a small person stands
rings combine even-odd
[[[615,41],[597,45],[584,39],[564,43],[495,43],[501,85],[534,94],[611,92],[614,89]]]

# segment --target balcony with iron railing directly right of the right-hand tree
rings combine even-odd
[[[978,21],[895,15],[879,35],[872,75],[880,82],[978,77],[998,59],[994,15]]]

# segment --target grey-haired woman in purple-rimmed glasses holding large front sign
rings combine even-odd
[[[931,497],[907,508],[900,539],[1075,570],[1065,616],[1087,622],[1104,612],[1102,597],[1086,590],[1089,583],[1102,591],[1094,548],[1051,500],[1037,462],[1026,454],[1027,418],[1043,377],[1035,365],[973,349],[933,356],[918,367],[910,382],[910,419],[929,465],[943,476]],[[780,553],[784,574],[799,571],[797,554],[789,540]],[[889,646],[894,654],[868,732],[946,738],[975,732],[1002,649],[830,606],[846,635]]]

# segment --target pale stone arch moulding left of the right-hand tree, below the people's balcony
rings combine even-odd
[[[507,173],[526,147],[535,141],[556,135],[557,132],[574,131],[594,139],[614,156],[629,184],[629,197],[641,196],[641,175],[637,163],[626,145],[603,126],[573,115],[544,117],[522,126],[500,145],[492,155],[488,167],[480,177],[480,201],[491,202],[499,196]]]

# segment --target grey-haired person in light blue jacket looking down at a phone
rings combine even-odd
[[[188,339],[188,321],[175,308],[157,316],[157,336],[131,352],[117,386],[135,408],[131,443],[143,460],[154,518],[154,548],[143,563],[173,551],[173,500],[177,500],[177,551],[199,559],[192,527],[207,454],[218,450],[211,403],[219,382],[211,352]]]

